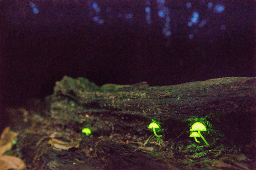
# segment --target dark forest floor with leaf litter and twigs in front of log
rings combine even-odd
[[[247,146],[203,146],[194,138],[180,140],[182,134],[169,140],[153,132],[87,136],[69,124],[55,123],[40,100],[8,108],[5,114],[18,136],[4,155],[21,158],[28,170],[256,169],[255,141]]]

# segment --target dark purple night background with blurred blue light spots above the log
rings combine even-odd
[[[97,85],[254,77],[254,0],[0,0],[0,101]]]

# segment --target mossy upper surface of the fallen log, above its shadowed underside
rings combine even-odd
[[[255,87],[256,78],[226,77],[163,87],[149,87],[142,82],[135,85],[107,84],[99,88],[87,79],[65,76],[56,82],[51,115],[70,120],[66,115],[74,114],[72,109],[58,110],[62,99],[72,100],[81,106],[80,112],[83,113],[112,112],[162,120],[180,120],[210,112],[219,115],[255,112]],[[74,111],[77,115],[79,109]]]

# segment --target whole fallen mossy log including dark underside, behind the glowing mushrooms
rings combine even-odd
[[[245,77],[163,87],[150,87],[146,82],[98,87],[84,78],[64,76],[54,88],[51,116],[63,124],[73,122],[73,127],[77,126],[75,122],[89,124],[94,131],[104,134],[114,128],[140,133],[151,118],[158,118],[169,128],[172,126],[168,122],[207,115],[215,127],[226,124],[219,129],[226,128],[227,131],[234,125],[243,127],[244,130],[237,131],[240,134],[247,132],[244,135],[249,133],[252,138],[255,133],[255,89],[256,78]],[[232,133],[236,132],[232,130]]]

